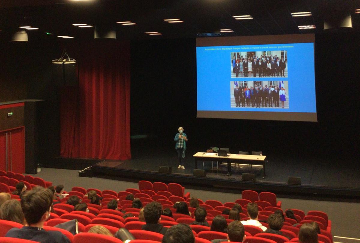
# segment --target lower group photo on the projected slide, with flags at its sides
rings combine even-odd
[[[230,81],[230,106],[289,109],[288,87],[288,81]]]

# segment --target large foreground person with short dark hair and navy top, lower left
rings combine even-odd
[[[44,222],[50,217],[53,193],[49,189],[36,188],[26,191],[21,197],[21,208],[26,219],[26,226],[13,228],[5,237],[33,240],[40,243],[70,243],[59,231],[45,231]]]

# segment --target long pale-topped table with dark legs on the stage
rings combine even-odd
[[[231,163],[242,164],[240,162],[246,162],[244,164],[250,165],[250,173],[251,165],[262,165],[262,178],[265,178],[266,155],[228,154],[228,156],[217,156],[217,153],[198,152],[194,154],[193,157],[195,159],[195,169],[198,168],[198,160],[226,162],[228,164],[228,175],[231,174]]]

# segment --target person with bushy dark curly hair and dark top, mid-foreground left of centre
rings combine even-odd
[[[160,234],[165,234],[167,228],[160,224],[162,206],[158,202],[151,202],[144,208],[144,217],[146,224],[141,227],[142,230],[153,231]]]

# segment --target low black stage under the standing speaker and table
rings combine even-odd
[[[247,165],[232,164],[232,173],[227,176],[226,163],[220,164],[217,168],[215,161],[197,161],[198,169],[204,169],[207,175],[195,177],[195,159],[192,155],[198,151],[187,149],[185,169],[178,169],[175,149],[169,149],[167,146],[144,150],[141,147],[133,146],[131,160],[94,161],[93,165],[81,171],[79,175],[114,180],[176,182],[186,188],[227,190],[234,193],[250,189],[295,196],[358,198],[360,195],[360,174],[356,164],[349,167],[348,163],[347,166],[341,166],[341,161],[330,163],[329,159],[267,155],[266,177],[262,178],[261,166],[253,165],[252,172],[256,175],[256,181],[250,182],[242,181],[242,173],[248,173]],[[171,166],[172,173],[159,173],[159,166]],[[301,177],[302,185],[288,185],[289,176]]]

